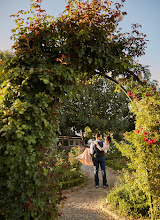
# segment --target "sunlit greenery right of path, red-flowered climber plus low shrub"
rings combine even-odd
[[[125,174],[125,181],[108,198],[110,203],[121,211],[124,209],[126,212],[131,202],[132,210],[127,211],[130,214],[137,213],[151,219],[159,219],[160,94],[155,86],[148,85],[146,88],[137,87],[134,92],[128,94],[135,100],[131,103],[131,111],[136,115],[135,130],[126,132],[125,141],[116,143],[116,146],[131,160],[129,167],[134,171],[129,177]],[[132,190],[129,190],[131,187]],[[140,200],[140,196],[144,201]]]

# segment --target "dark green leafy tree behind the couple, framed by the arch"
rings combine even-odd
[[[84,133],[87,126],[93,133],[132,130],[134,120],[129,114],[129,99],[123,91],[115,90],[116,86],[105,78],[79,82],[77,91],[71,89],[62,105],[62,134],[66,134],[66,130]]]

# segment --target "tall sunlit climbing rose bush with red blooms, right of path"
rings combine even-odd
[[[146,198],[146,204],[149,205],[149,218],[159,219],[160,94],[149,85],[146,88],[136,87],[136,92],[136,99],[134,99],[130,106],[131,111],[136,116],[135,130],[126,132],[124,136],[125,141],[120,143],[115,142],[115,144],[122,154],[131,160],[129,167],[135,170],[136,187],[139,192],[143,192],[143,196]],[[125,184],[128,185],[127,182]],[[123,190],[126,186],[125,184],[122,186]],[[134,184],[130,185],[130,187],[132,186],[134,187]],[[128,201],[134,202],[136,193],[128,193],[127,195]],[[139,201],[141,201],[140,198]],[[124,200],[122,203],[124,204]],[[137,209],[138,211],[142,214],[141,209]]]

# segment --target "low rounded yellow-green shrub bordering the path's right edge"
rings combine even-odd
[[[134,173],[123,170],[117,185],[107,195],[111,207],[126,216],[149,217],[149,203],[145,193],[139,189]]]

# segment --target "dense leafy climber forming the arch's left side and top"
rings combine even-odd
[[[70,85],[95,74],[138,79],[143,71],[135,58],[144,54],[145,36],[137,25],[131,34],[118,30],[123,4],[68,0],[54,19],[40,2],[13,15],[15,52],[0,63],[0,215],[8,220],[58,214],[61,168],[52,148]]]

